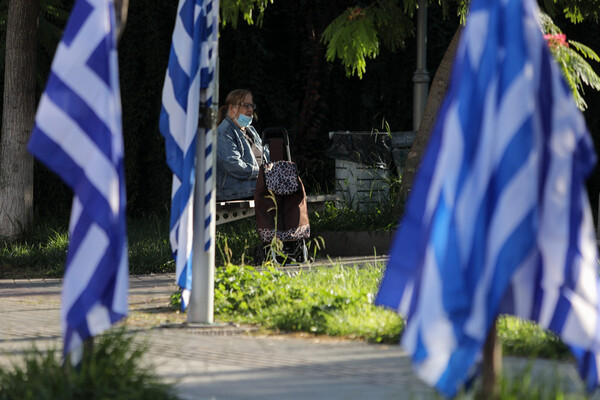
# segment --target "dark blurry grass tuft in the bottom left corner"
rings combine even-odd
[[[99,336],[79,371],[70,364],[63,367],[55,350],[33,349],[24,363],[0,367],[0,400],[175,400],[173,388],[142,366],[146,349],[123,331]]]

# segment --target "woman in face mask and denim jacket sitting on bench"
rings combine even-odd
[[[259,166],[269,160],[252,125],[252,93],[236,89],[219,109],[217,123],[217,200],[254,198]]]

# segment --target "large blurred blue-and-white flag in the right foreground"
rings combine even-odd
[[[500,312],[568,344],[598,385],[596,156],[534,0],[473,0],[376,303],[407,316],[417,374],[453,396]]]

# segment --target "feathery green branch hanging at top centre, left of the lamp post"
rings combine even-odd
[[[346,9],[323,32],[321,41],[327,44],[327,61],[339,58],[347,76],[356,74],[362,79],[367,59],[379,55],[380,41],[392,51],[404,47],[404,40],[413,33],[413,12],[414,3],[407,2],[403,10],[393,0]]]

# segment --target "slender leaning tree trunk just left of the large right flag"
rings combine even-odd
[[[402,182],[400,183],[400,189],[398,192],[398,198],[396,199],[395,212],[396,215],[400,216],[403,213],[404,203],[408,198],[410,189],[415,178],[417,169],[421,164],[421,159],[427,148],[429,142],[429,135],[433,129],[433,124],[437,118],[438,110],[446,95],[446,89],[450,81],[450,75],[452,73],[452,65],[454,62],[454,55],[458,47],[460,39],[460,33],[462,31],[462,25],[459,25],[456,33],[452,37],[452,41],[444,53],[442,62],[438,67],[433,82],[431,83],[431,89],[429,90],[429,96],[427,97],[427,104],[425,105],[425,111],[421,124],[419,125],[419,131],[415,137],[415,141],[410,149],[410,153],[406,159],[406,165],[402,171]]]

